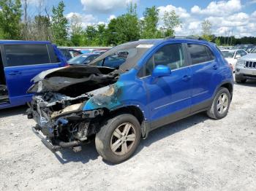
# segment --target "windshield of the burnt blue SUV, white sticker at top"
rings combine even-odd
[[[121,44],[100,55],[94,61],[89,63],[89,65],[106,66],[127,71],[132,69],[142,55],[153,46],[154,44],[149,44],[149,42],[146,44],[146,42],[143,41]]]

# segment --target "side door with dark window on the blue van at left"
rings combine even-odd
[[[60,66],[51,44],[4,44],[4,73],[10,96],[10,104],[18,106],[30,101],[26,91],[31,79],[41,71]]]

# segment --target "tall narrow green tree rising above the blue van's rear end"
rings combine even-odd
[[[57,7],[53,6],[53,15],[51,22],[51,31],[53,42],[59,46],[67,44],[68,20],[64,17],[64,2],[60,1]]]

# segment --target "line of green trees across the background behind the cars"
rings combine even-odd
[[[65,5],[60,1],[50,10],[43,0],[37,1],[35,15],[28,12],[29,1],[0,0],[0,39],[49,40],[59,46],[115,46],[138,39],[158,39],[175,35],[175,28],[182,23],[175,11],[159,16],[157,7],[148,7],[139,19],[137,5],[128,4],[127,12],[109,21],[108,24],[82,26],[82,17],[73,14],[67,19]],[[161,26],[159,25],[161,21]],[[229,42],[223,36],[212,35],[211,23],[203,20],[200,25],[203,39],[217,44],[256,44],[255,37]]]

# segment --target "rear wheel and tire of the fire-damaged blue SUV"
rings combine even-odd
[[[226,87],[219,88],[211,104],[211,108],[207,111],[208,117],[216,120],[226,117],[230,108],[230,98],[230,92]]]

